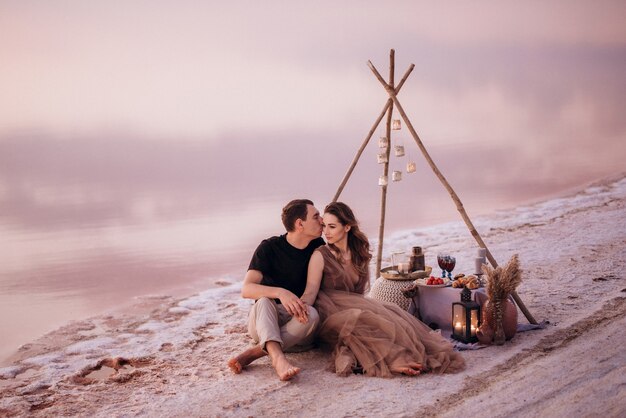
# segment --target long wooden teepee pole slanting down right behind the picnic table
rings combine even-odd
[[[370,69],[374,72],[374,75],[376,76],[378,81],[381,82],[381,84],[385,87],[385,90],[387,90],[387,93],[389,93],[389,97],[393,100],[393,102],[394,102],[396,108],[398,109],[398,112],[402,116],[402,119],[404,120],[404,123],[406,124],[409,132],[411,132],[411,136],[413,136],[413,139],[415,140],[415,143],[419,147],[420,151],[422,151],[422,154],[424,155],[424,158],[426,158],[426,161],[428,162],[428,165],[430,165],[430,168],[433,170],[433,172],[435,173],[437,178],[439,178],[439,180],[441,181],[443,186],[446,188],[446,190],[450,194],[450,197],[452,197],[452,200],[454,201],[457,210],[461,214],[461,217],[463,218],[463,221],[465,221],[465,225],[467,225],[468,229],[470,230],[470,233],[472,234],[472,236],[474,237],[476,242],[478,242],[478,244],[481,247],[486,249],[487,259],[489,260],[491,265],[494,268],[498,267],[498,263],[495,260],[495,258],[493,257],[493,255],[491,254],[491,251],[489,251],[489,249],[487,248],[487,245],[485,244],[485,242],[483,241],[482,237],[480,236],[480,234],[478,233],[478,231],[474,227],[474,224],[472,223],[472,221],[470,220],[469,216],[467,215],[467,212],[465,212],[465,208],[463,207],[463,203],[461,202],[461,199],[459,199],[459,197],[457,196],[457,194],[454,191],[454,189],[452,189],[452,186],[450,186],[450,183],[448,183],[448,181],[443,176],[443,174],[441,173],[441,171],[439,170],[439,168],[437,167],[437,165],[435,164],[433,159],[430,157],[430,154],[426,150],[426,147],[424,147],[424,144],[422,143],[422,140],[420,139],[419,135],[417,134],[417,132],[413,128],[413,125],[411,124],[411,121],[409,120],[408,116],[404,112],[404,109],[402,108],[402,105],[400,104],[400,102],[398,101],[398,98],[396,97],[396,93],[395,93],[395,89],[393,88],[393,85],[389,85],[389,84],[385,83],[385,80],[380,76],[380,74],[378,73],[378,71],[376,70],[376,68],[374,67],[374,65],[372,64],[371,61],[368,61],[368,65],[369,65]],[[517,303],[517,306],[519,306],[520,310],[524,313],[524,316],[526,316],[526,319],[528,319],[528,322],[530,322],[531,324],[536,324],[537,321],[531,315],[530,311],[528,311],[528,309],[526,308],[526,305],[524,305],[524,302],[519,297],[517,292],[513,292],[512,296],[513,296],[513,299],[515,300],[515,303]]]

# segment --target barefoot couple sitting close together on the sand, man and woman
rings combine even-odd
[[[322,219],[310,200],[293,200],[282,221],[287,233],[261,242],[244,278],[241,295],[256,301],[248,319],[256,345],[228,361],[234,373],[269,355],[280,380],[289,380],[300,368],[284,353],[307,350],[316,339],[332,349],[342,376],[464,367],[452,345],[414,316],[364,296],[372,256],[346,204],[329,204]]]

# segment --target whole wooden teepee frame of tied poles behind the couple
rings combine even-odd
[[[402,119],[404,120],[404,124],[406,125],[407,129],[411,133],[411,136],[415,140],[415,143],[419,147],[420,151],[422,151],[422,154],[424,155],[424,158],[426,158],[426,161],[428,162],[428,165],[430,165],[430,168],[433,170],[433,172],[435,173],[435,175],[437,176],[439,181],[441,181],[441,184],[443,184],[443,186],[446,188],[446,190],[450,194],[450,197],[452,198],[452,200],[454,201],[454,204],[456,205],[456,209],[461,214],[461,218],[463,218],[463,221],[465,222],[465,225],[467,225],[470,233],[472,234],[472,236],[474,237],[474,239],[476,240],[478,245],[486,249],[487,259],[489,260],[489,262],[491,263],[493,268],[498,267],[498,262],[495,260],[495,258],[493,257],[493,255],[489,251],[489,248],[487,248],[487,244],[485,244],[485,241],[483,241],[482,237],[480,236],[480,234],[478,233],[478,231],[474,227],[474,224],[472,224],[472,221],[470,220],[469,216],[467,216],[467,212],[465,212],[465,209],[463,207],[463,203],[461,203],[461,199],[459,199],[459,197],[457,196],[457,194],[454,191],[454,189],[452,189],[452,186],[450,186],[450,183],[448,183],[448,181],[443,176],[443,174],[441,173],[439,168],[437,168],[437,165],[435,164],[433,159],[428,154],[428,151],[426,150],[426,147],[424,147],[424,144],[422,143],[422,140],[420,139],[420,137],[417,134],[417,132],[415,132],[415,129],[413,128],[413,125],[411,124],[411,121],[409,120],[408,116],[404,112],[404,109],[402,108],[402,105],[398,101],[398,97],[397,97],[398,93],[400,92],[400,89],[404,85],[404,82],[406,81],[406,79],[411,74],[411,71],[413,71],[413,68],[415,68],[415,65],[411,64],[409,66],[408,70],[404,73],[404,76],[402,77],[402,79],[400,80],[400,82],[398,83],[397,86],[395,86],[395,80],[394,80],[395,51],[393,49],[389,53],[389,82],[386,82],[382,78],[382,76],[380,75],[378,70],[376,70],[376,67],[374,67],[374,64],[372,64],[371,61],[368,61],[367,65],[370,67],[370,69],[372,70],[372,72],[374,73],[374,75],[376,76],[378,81],[382,84],[382,86],[385,88],[385,90],[389,94],[389,99],[387,99],[387,103],[385,104],[383,110],[380,112],[380,115],[378,116],[378,118],[374,122],[374,125],[372,126],[372,129],[370,129],[369,133],[367,134],[367,137],[363,141],[363,144],[361,144],[361,147],[359,148],[359,150],[357,151],[356,155],[354,156],[354,159],[352,160],[352,163],[350,164],[350,167],[348,168],[348,171],[346,172],[345,176],[343,177],[343,180],[341,181],[341,184],[339,185],[339,188],[337,189],[337,192],[335,193],[335,196],[333,197],[333,202],[335,202],[335,201],[337,201],[337,199],[339,199],[339,196],[341,195],[341,192],[343,191],[344,187],[346,186],[346,183],[348,182],[348,179],[352,175],[352,172],[354,171],[354,168],[356,167],[356,164],[359,161],[359,158],[361,158],[361,154],[363,154],[363,150],[365,149],[365,147],[369,143],[370,139],[372,138],[372,135],[374,135],[374,132],[378,128],[378,125],[380,124],[380,122],[382,121],[382,119],[383,119],[383,117],[385,115],[387,115],[386,136],[387,136],[388,140],[390,141],[390,143],[389,143],[389,146],[387,147],[387,151],[386,151],[387,152],[387,162],[384,165],[383,175],[384,176],[388,176],[388,174],[389,174],[389,153],[390,153],[390,150],[391,150],[391,117],[392,117],[392,114],[393,114],[393,108],[395,106],[398,109],[398,113],[400,113],[400,116],[402,116]],[[378,277],[380,275],[380,269],[381,269],[381,260],[382,260],[382,252],[383,252],[383,238],[384,238],[384,234],[385,234],[385,210],[386,210],[386,204],[387,204],[386,202],[387,202],[387,185],[383,185],[382,186],[382,194],[381,194],[381,202],[380,202],[380,226],[379,226],[379,229],[378,229],[378,251],[377,251],[377,256],[376,256],[376,277]],[[519,297],[517,292],[513,292],[512,296],[513,296],[513,299],[515,300],[515,303],[517,304],[517,306],[520,308],[520,310],[522,311],[524,316],[526,316],[526,319],[528,320],[528,322],[530,322],[531,324],[536,324],[537,321],[535,320],[535,318],[533,318],[531,313],[528,311],[528,309],[524,305],[524,302],[522,302],[522,299]]]

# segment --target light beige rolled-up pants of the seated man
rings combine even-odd
[[[255,342],[261,344],[264,351],[268,341],[279,343],[284,352],[308,350],[315,339],[319,315],[312,306],[307,308],[309,320],[303,324],[292,317],[280,303],[273,299],[260,298],[250,309],[248,333]]]

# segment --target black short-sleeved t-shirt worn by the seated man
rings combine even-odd
[[[257,247],[248,270],[258,270],[263,273],[262,285],[282,287],[300,297],[306,287],[311,254],[317,247],[324,244],[324,240],[320,237],[300,250],[287,242],[286,234],[268,238]]]

